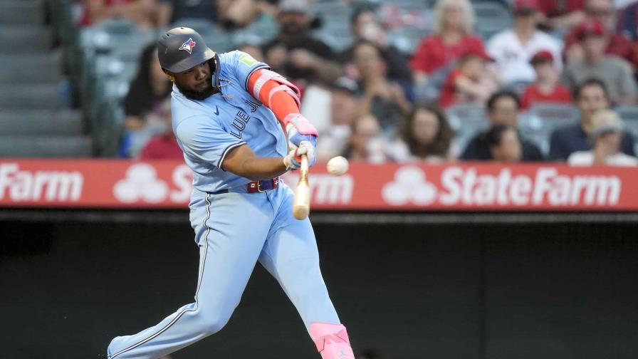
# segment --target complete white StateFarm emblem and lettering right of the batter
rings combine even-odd
[[[427,180],[419,167],[401,167],[382,188],[388,204],[443,206],[613,206],[622,182],[615,175],[561,174],[539,167],[533,174],[513,175],[508,167],[479,174],[475,167],[446,167]]]

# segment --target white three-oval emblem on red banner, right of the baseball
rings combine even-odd
[[[436,199],[436,186],[427,182],[419,167],[402,167],[394,174],[394,181],[383,187],[382,196],[393,206],[410,202],[425,205]]]

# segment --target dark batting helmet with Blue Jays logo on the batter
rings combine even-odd
[[[160,65],[172,73],[187,71],[214,56],[215,52],[206,46],[204,38],[192,28],[172,28],[157,41]]]

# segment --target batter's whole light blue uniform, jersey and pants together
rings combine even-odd
[[[187,44],[197,46],[197,41],[189,38]],[[248,193],[250,180],[221,170],[229,151],[244,144],[258,157],[286,155],[286,137],[275,115],[246,90],[251,73],[268,66],[239,51],[222,53],[216,61],[213,83],[221,93],[197,101],[174,87],[171,102],[173,131],[194,172],[189,217],[199,246],[195,301],[155,326],[113,338],[109,359],[160,358],[220,331],[239,305],[257,262],[281,284],[311,338],[313,325],[339,323],[319,269],[310,220],[293,217],[293,191],[278,182],[277,188]],[[340,329],[334,334],[328,342],[318,335],[313,340],[347,342]],[[339,356],[318,350],[324,359],[354,359],[352,350]],[[288,356],[282,353],[281,358]]]

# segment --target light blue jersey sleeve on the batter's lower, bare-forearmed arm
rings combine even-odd
[[[246,142],[231,135],[219,123],[206,116],[188,118],[177,126],[175,132],[187,155],[221,170],[226,155],[232,149],[246,145]]]

